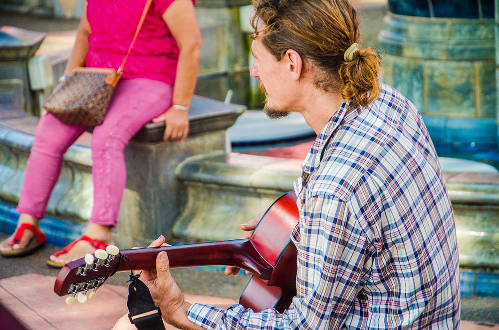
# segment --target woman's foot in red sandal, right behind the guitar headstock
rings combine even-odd
[[[83,236],[73,243],[51,255],[47,264],[62,267],[68,262],[83,258],[87,253],[94,253],[99,248],[105,249],[106,245],[112,244],[111,227],[89,223]]]

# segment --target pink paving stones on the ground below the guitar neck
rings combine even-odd
[[[127,313],[127,287],[104,285],[93,300],[66,305],[53,292],[55,277],[25,274],[0,280],[0,302],[28,329],[106,330]],[[232,305],[233,299],[186,294],[191,303]],[[1,329],[1,327],[0,327]]]

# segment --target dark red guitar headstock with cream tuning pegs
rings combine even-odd
[[[118,247],[109,245],[106,250],[99,249],[94,254],[87,253],[84,258],[67,263],[55,279],[54,292],[59,296],[71,295],[66,298],[69,305],[94,298],[97,289],[120,266],[118,254]]]

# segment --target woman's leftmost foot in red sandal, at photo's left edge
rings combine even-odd
[[[29,214],[21,214],[17,226],[9,237],[0,242],[2,256],[21,256],[28,254],[45,241],[45,235],[40,231],[39,219]]]

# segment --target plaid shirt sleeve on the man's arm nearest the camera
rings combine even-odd
[[[193,304],[189,320],[209,330],[341,328],[368,274],[365,235],[352,222],[346,203],[334,197],[306,202],[300,212],[297,297],[284,313]]]

